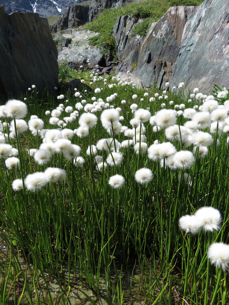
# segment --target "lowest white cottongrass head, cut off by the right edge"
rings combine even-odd
[[[208,258],[212,264],[224,271],[229,268],[229,245],[223,242],[214,242],[208,249]]]

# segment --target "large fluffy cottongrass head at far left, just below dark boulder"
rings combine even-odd
[[[5,113],[6,117],[22,119],[27,114],[27,106],[24,102],[21,102],[16,99],[10,99],[5,104],[4,113]]]

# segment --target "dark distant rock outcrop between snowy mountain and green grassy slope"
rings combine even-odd
[[[132,0],[91,0],[82,3],[76,3],[69,6],[64,15],[57,20],[52,32],[65,30],[67,28],[78,27],[86,22],[91,22],[104,10],[121,6]],[[136,1],[136,0],[135,0]]]

